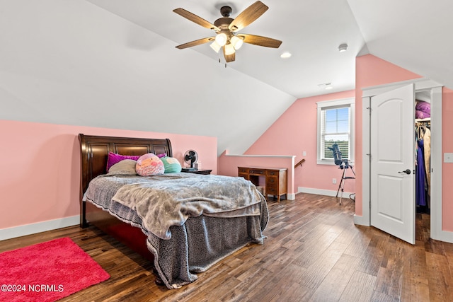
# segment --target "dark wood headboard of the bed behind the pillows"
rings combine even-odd
[[[108,152],[122,155],[146,153],[173,156],[170,139],[137,139],[130,137],[98,137],[79,134],[81,152],[80,207],[81,221],[85,219],[85,204],[82,197],[88,183],[96,176],[107,173]]]

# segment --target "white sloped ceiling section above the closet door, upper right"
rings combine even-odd
[[[415,74],[453,87],[453,1],[348,0],[367,50]]]

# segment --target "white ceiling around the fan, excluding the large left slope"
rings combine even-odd
[[[220,7],[231,6],[231,18],[253,4],[227,0],[89,0],[137,25],[168,38],[174,45],[210,37],[203,28],[173,13],[187,11],[211,23],[220,18]],[[263,0],[263,16],[241,33],[282,40],[279,49],[244,45],[236,52],[236,69],[268,83],[295,98],[346,91],[355,87],[355,57],[371,53],[453,87],[453,1],[451,0]],[[139,44],[131,37],[131,43]],[[347,43],[347,52],[338,45]],[[292,57],[281,59],[282,52]],[[200,52],[219,64],[219,54],[209,44],[180,50],[185,60]],[[223,58],[222,58],[223,62]],[[223,63],[222,63],[223,64]],[[333,90],[319,86],[331,83]]]

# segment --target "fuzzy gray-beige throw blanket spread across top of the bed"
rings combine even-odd
[[[120,188],[115,202],[130,207],[144,227],[162,239],[171,226],[182,226],[190,216],[259,216],[261,195],[243,178],[188,173],[157,176]]]

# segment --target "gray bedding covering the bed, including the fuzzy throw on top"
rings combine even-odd
[[[152,187],[157,189],[153,192]],[[154,266],[170,289],[195,281],[195,273],[248,243],[263,244],[262,231],[268,223],[265,198],[243,178],[100,175],[90,182],[85,196],[142,228]]]

